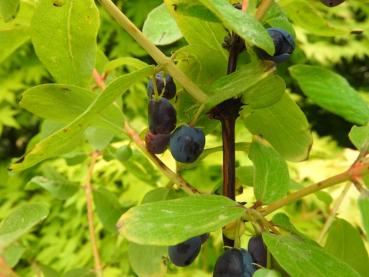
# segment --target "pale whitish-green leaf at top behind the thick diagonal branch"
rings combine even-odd
[[[155,45],[171,44],[182,37],[165,4],[156,7],[147,15],[142,32]]]

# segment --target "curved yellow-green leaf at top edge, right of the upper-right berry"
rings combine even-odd
[[[284,2],[287,4],[284,4]],[[339,29],[331,26],[309,1],[282,1],[281,4],[293,23],[310,34],[330,37],[348,35],[350,33],[349,29]]]

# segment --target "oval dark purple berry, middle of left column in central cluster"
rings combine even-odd
[[[150,99],[148,107],[149,129],[153,134],[169,134],[176,127],[177,113],[165,98]]]

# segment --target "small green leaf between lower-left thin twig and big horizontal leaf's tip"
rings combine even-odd
[[[123,208],[120,205],[118,198],[114,193],[104,188],[99,188],[94,191],[93,197],[96,212],[101,223],[113,234],[117,233],[116,224],[123,212]]]

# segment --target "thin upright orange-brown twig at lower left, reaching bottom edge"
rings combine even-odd
[[[95,273],[96,273],[96,276],[102,277],[103,276],[102,266],[101,266],[99,251],[97,248],[95,227],[94,227],[93,195],[92,195],[92,184],[91,184],[96,160],[99,155],[100,153],[98,151],[94,151],[91,153],[91,162],[88,167],[87,176],[86,176],[86,180],[84,183],[84,189],[85,189],[86,206],[87,206],[88,230],[90,233],[92,253],[93,253],[94,261],[95,261]]]

